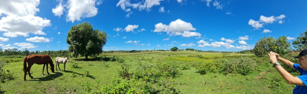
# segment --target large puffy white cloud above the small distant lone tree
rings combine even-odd
[[[196,28],[192,26],[191,23],[187,23],[180,19],[172,21],[169,25],[163,23],[157,23],[154,25],[155,29],[153,32],[167,32],[170,36],[172,35],[182,35],[183,37],[193,37],[193,36],[201,36],[200,33],[191,32],[195,31]]]

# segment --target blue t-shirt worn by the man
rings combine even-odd
[[[297,76],[301,81],[307,85],[307,71],[300,68],[300,64],[293,64],[293,67],[300,72],[300,76]],[[296,85],[293,89],[293,94],[306,94],[307,86]]]

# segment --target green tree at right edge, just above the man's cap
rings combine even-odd
[[[292,45],[296,51],[302,51],[307,48],[307,30],[300,34],[296,40],[292,41]]]

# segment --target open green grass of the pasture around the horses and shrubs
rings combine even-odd
[[[143,56],[144,54],[144,56]],[[170,56],[168,56],[170,55]],[[201,55],[203,58],[192,57],[193,55]],[[174,79],[178,83],[175,88],[179,93],[183,94],[216,94],[216,93],[255,93],[255,94],[275,94],[292,93],[295,85],[287,84],[287,82],[278,74],[275,68],[272,68],[268,59],[256,58],[253,54],[235,54],[235,53],[209,53],[195,51],[153,51],[153,52],[136,52],[136,53],[106,53],[101,56],[119,56],[130,65],[129,71],[135,71],[140,65],[154,65],[164,63],[186,63],[189,65],[197,65],[200,63],[214,63],[224,57],[245,56],[255,59],[256,69],[247,75],[242,74],[219,74],[208,72],[204,75],[197,72],[195,67],[188,70],[180,70]],[[52,60],[55,64],[55,58]],[[15,60],[15,59],[14,59]],[[117,73],[122,63],[117,61],[101,61],[95,58],[85,60],[84,57],[70,58],[71,61],[78,63],[79,68],[73,68],[72,63],[66,64],[65,71],[56,71],[50,75],[42,75],[43,65],[34,64],[31,68],[31,75],[34,79],[29,78],[23,81],[23,58],[17,58],[16,62],[4,64],[5,70],[13,73],[14,80],[1,83],[1,91],[4,93],[86,93],[84,84],[96,87],[103,87],[111,84],[115,79],[122,79]],[[108,65],[108,67],[106,67]],[[60,64],[61,70],[64,65]],[[89,71],[89,76],[85,76]],[[45,70],[45,73],[46,70]],[[298,72],[291,72],[293,76],[297,76]],[[75,75],[75,76],[74,76]],[[99,82],[99,84],[97,84]]]

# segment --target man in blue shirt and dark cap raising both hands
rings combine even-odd
[[[307,94],[307,49],[304,49],[298,56],[293,56],[294,58],[298,58],[297,61],[299,64],[292,63],[289,60],[283,59],[279,57],[279,55],[275,52],[270,52],[270,61],[273,63],[273,67],[275,67],[278,73],[289,83],[296,85],[293,89],[293,94]],[[287,72],[280,64],[277,62],[277,59],[282,63],[298,70],[300,72],[300,76],[294,77],[289,72]]]

